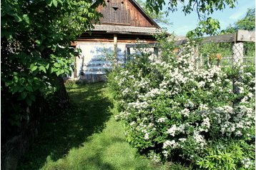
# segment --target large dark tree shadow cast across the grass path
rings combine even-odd
[[[104,84],[79,84],[69,89],[72,109],[69,114],[41,126],[39,138],[20,161],[18,169],[40,169],[46,158],[57,161],[72,148],[82,146],[87,137],[101,132],[111,116],[112,107],[103,95]]]

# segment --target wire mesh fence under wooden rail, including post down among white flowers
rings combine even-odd
[[[222,42],[207,43],[195,46],[198,49],[197,66],[207,68],[209,66],[230,67],[238,69],[232,76],[233,92],[240,94],[237,84],[242,81],[242,73],[255,70],[255,42]],[[240,100],[234,101],[239,104]]]

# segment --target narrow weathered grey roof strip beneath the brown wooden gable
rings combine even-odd
[[[120,25],[110,25],[102,24],[94,25],[92,31],[105,31],[107,33],[118,33],[118,34],[160,34],[161,29],[155,27],[141,27],[141,26],[120,26]]]

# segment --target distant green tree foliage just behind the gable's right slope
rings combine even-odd
[[[154,19],[154,21],[156,21],[157,23],[159,23],[159,24],[171,24],[169,22],[169,20],[166,19],[166,17],[165,17],[167,15],[167,11],[159,11],[157,13],[156,11],[150,11],[149,9],[147,9],[146,1],[137,0],[137,3],[139,4],[139,6],[142,7],[142,9],[144,9],[146,14],[148,16],[150,16],[152,19]]]

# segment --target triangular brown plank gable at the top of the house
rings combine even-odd
[[[105,0],[105,3],[106,6],[98,8],[103,14],[101,24],[159,28],[134,0]]]

